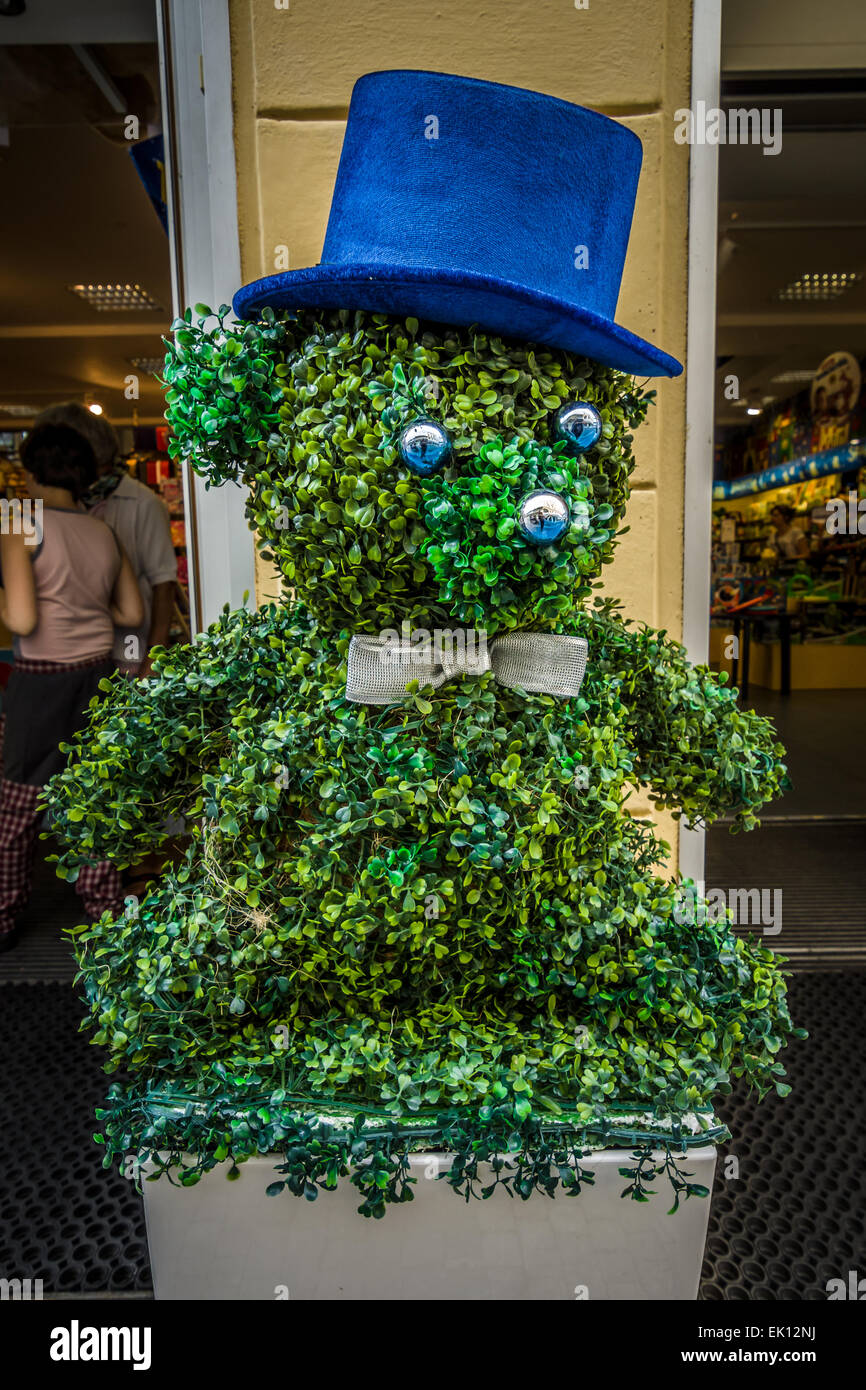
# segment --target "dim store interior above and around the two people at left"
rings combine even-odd
[[[3,44],[0,89],[0,496],[25,495],[19,448],[42,410],[74,400],[110,420],[168,507],[185,639],[183,486],[156,375],[171,322],[157,46]],[[0,684],[11,659],[0,627]]]

